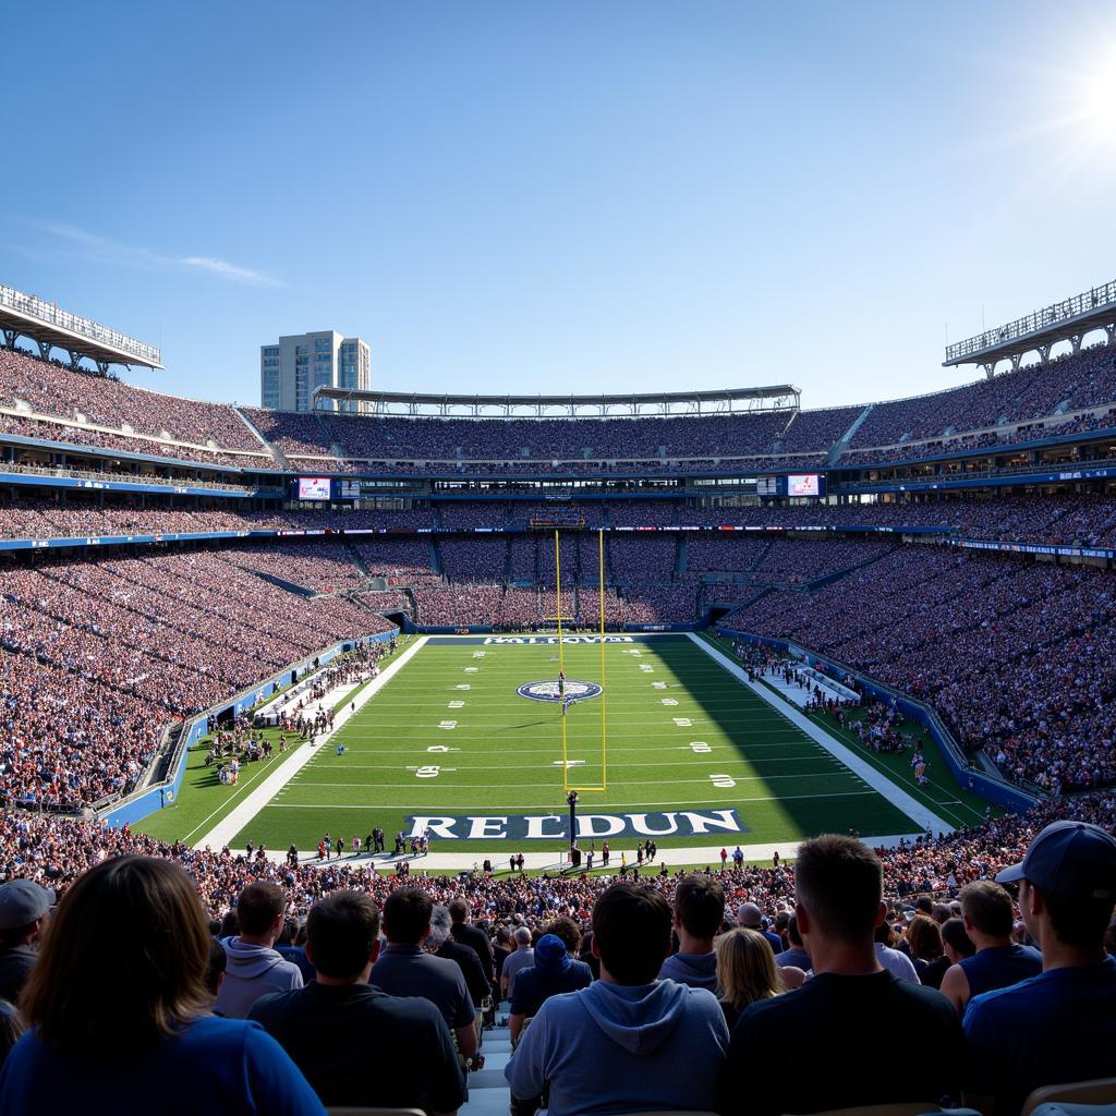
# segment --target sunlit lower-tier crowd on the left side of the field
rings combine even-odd
[[[387,631],[213,554],[6,571],[0,800],[80,808],[129,790],[163,728],[330,642]]]

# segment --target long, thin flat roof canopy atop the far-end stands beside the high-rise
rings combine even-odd
[[[319,387],[321,400],[353,402],[365,414],[437,415],[441,417],[573,419],[675,414],[732,414],[748,411],[793,410],[800,388],[793,384],[730,387],[716,392],[665,392],[624,395],[423,395],[417,392],[362,392]]]

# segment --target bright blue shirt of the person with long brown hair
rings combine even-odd
[[[325,1116],[282,1047],[258,1023],[200,1018],[145,1050],[66,1054],[25,1035],[0,1074],[0,1116]]]

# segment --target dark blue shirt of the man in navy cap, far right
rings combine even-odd
[[[1017,1116],[1041,1085],[1112,1077],[1116,1065],[1116,959],[1051,969],[969,1001],[965,1091]]]

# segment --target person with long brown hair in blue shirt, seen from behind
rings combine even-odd
[[[262,1028],[209,1016],[209,942],[181,865],[124,856],[79,876],[23,990],[31,1030],[0,1074],[0,1114],[324,1116]]]

